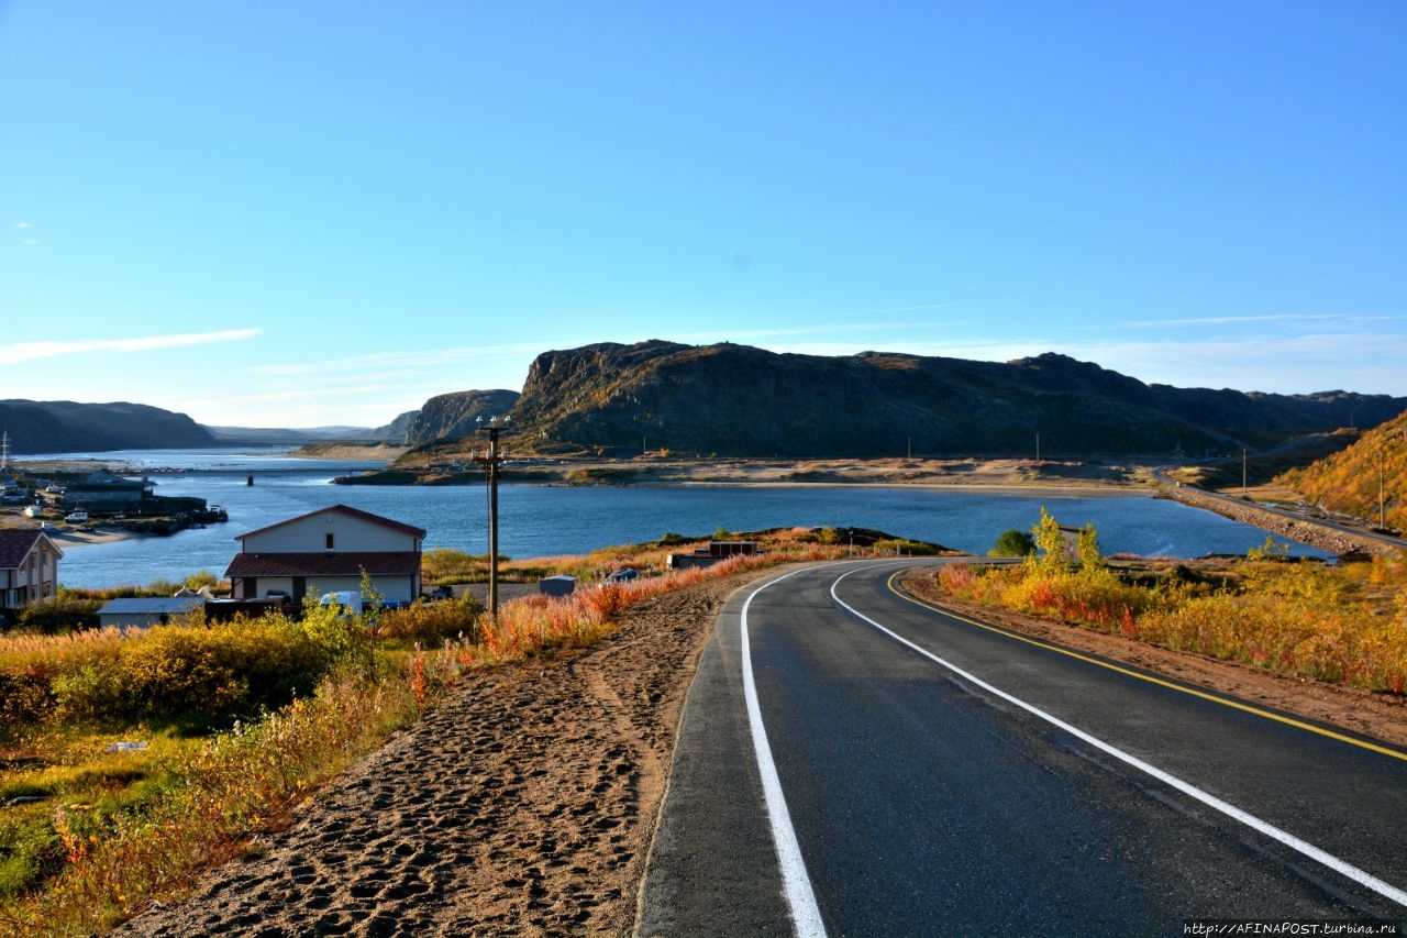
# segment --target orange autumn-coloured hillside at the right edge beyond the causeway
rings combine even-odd
[[[1328,511],[1407,531],[1407,413],[1366,431],[1342,452],[1275,480]]]

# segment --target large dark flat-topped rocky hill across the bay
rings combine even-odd
[[[1407,399],[1346,392],[1144,384],[1054,354],[999,363],[649,341],[539,355],[512,415],[516,445],[549,452],[1202,456],[1403,410]]]

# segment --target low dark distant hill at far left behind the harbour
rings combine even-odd
[[[0,430],[10,434],[13,454],[215,445],[210,430],[186,414],[127,401],[0,400]]]

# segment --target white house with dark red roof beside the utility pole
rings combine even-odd
[[[363,573],[388,603],[421,594],[425,531],[370,511],[335,504],[235,539],[241,549],[225,570],[235,599],[355,593]]]

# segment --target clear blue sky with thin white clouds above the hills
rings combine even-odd
[[[590,342],[1407,396],[1407,4],[0,0],[0,397]]]

